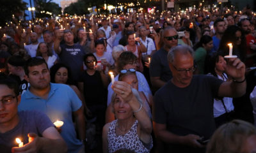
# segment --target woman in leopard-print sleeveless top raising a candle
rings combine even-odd
[[[113,84],[113,112],[116,120],[106,124],[102,132],[103,152],[129,149],[134,152],[150,152],[152,123],[138,99],[138,92],[126,82]]]

